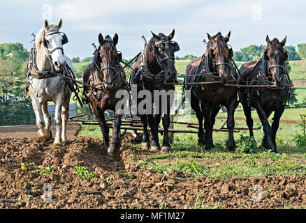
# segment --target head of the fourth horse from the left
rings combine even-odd
[[[228,40],[231,36],[231,31],[224,37],[221,33],[210,36],[207,33],[208,43],[205,55],[208,57],[210,70],[217,72],[221,78],[221,82],[226,82],[231,76],[231,57],[233,56],[233,49],[228,48]]]

